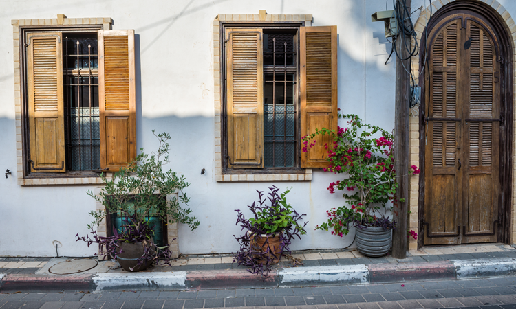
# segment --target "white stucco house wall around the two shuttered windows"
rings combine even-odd
[[[391,8],[391,1],[389,9]],[[413,8],[423,4],[414,0]],[[516,1],[499,0],[511,15]],[[87,233],[88,212],[95,209],[85,194],[92,185],[20,186],[16,174],[12,19],[111,17],[113,29],[136,32],[137,144],[153,150],[151,130],[171,133],[170,168],[191,183],[186,192],[200,218],[191,232],[180,227],[181,253],[228,253],[237,249],[233,234],[235,209],[257,198],[255,190],[270,185],[293,187],[288,201],[307,214],[308,234],[291,249],[340,248],[353,240],[314,231],[325,211],[343,205],[328,183],[340,176],[314,170],[306,182],[217,183],[214,163],[213,19],[217,14],[313,14],[312,25],[337,25],[338,106],[365,121],[394,128],[394,61],[384,65],[391,45],[383,23],[371,14],[385,10],[385,0],[0,0],[0,256],[54,256],[53,240],[63,244],[60,255],[93,255],[96,247],[75,242]],[[414,14],[416,18],[418,13]],[[6,169],[12,176],[3,178]],[[206,174],[200,170],[206,168]]]

